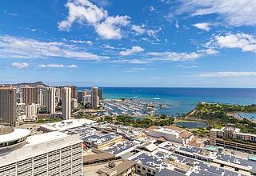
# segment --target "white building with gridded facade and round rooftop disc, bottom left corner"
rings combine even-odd
[[[82,141],[78,134],[0,127],[0,176],[82,176]]]

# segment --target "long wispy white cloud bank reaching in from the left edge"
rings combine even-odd
[[[76,58],[101,60],[96,54],[77,50],[64,42],[40,42],[30,38],[0,35],[0,58]]]

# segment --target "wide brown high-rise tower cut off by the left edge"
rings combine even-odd
[[[16,89],[0,87],[0,123],[15,126],[16,118]]]

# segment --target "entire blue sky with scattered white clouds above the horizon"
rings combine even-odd
[[[2,0],[0,80],[256,87],[255,9],[255,0]]]

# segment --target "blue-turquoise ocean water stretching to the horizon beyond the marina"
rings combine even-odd
[[[78,91],[90,89],[78,87]],[[158,87],[102,87],[104,98],[133,98],[160,102],[169,106],[158,114],[177,115],[194,109],[198,102],[223,102],[249,105],[256,103],[254,88],[158,88]]]

